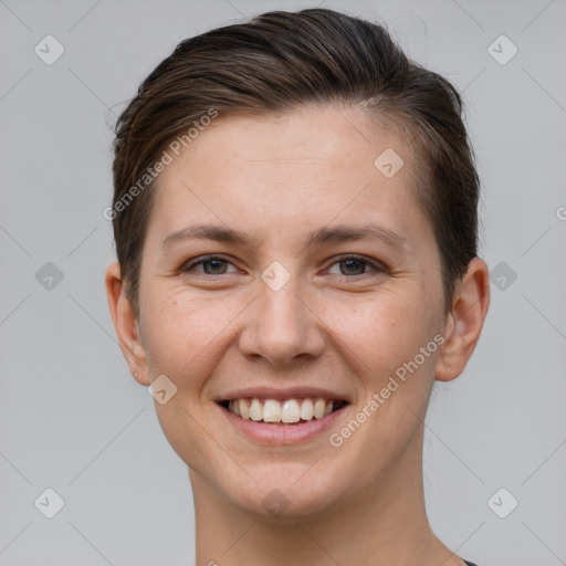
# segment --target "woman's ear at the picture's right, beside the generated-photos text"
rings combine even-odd
[[[444,324],[444,344],[437,360],[439,381],[455,379],[464,369],[480,339],[490,306],[490,271],[474,258],[454,290],[452,307]]]

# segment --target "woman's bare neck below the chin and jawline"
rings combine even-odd
[[[367,490],[308,516],[266,518],[245,513],[190,471],[197,566],[463,565],[428,523],[422,431],[420,442],[416,441]]]

